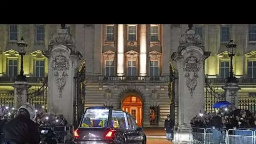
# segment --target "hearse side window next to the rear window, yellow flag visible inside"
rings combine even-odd
[[[128,120],[125,112],[113,110],[111,117],[111,128],[125,128],[128,129]]]

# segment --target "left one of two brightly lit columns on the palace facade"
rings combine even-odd
[[[117,75],[123,76],[124,75],[124,28],[123,24],[118,24],[117,28]]]

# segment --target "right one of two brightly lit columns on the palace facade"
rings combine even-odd
[[[139,54],[139,75],[147,75],[147,29],[146,24],[140,24],[140,54]]]

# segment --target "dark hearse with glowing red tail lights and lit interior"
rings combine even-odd
[[[127,112],[89,107],[74,131],[75,144],[146,144],[146,135]]]

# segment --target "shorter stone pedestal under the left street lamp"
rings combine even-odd
[[[22,104],[27,102],[27,93],[29,90],[29,83],[23,81],[16,81],[14,87],[14,107],[18,109]]]

